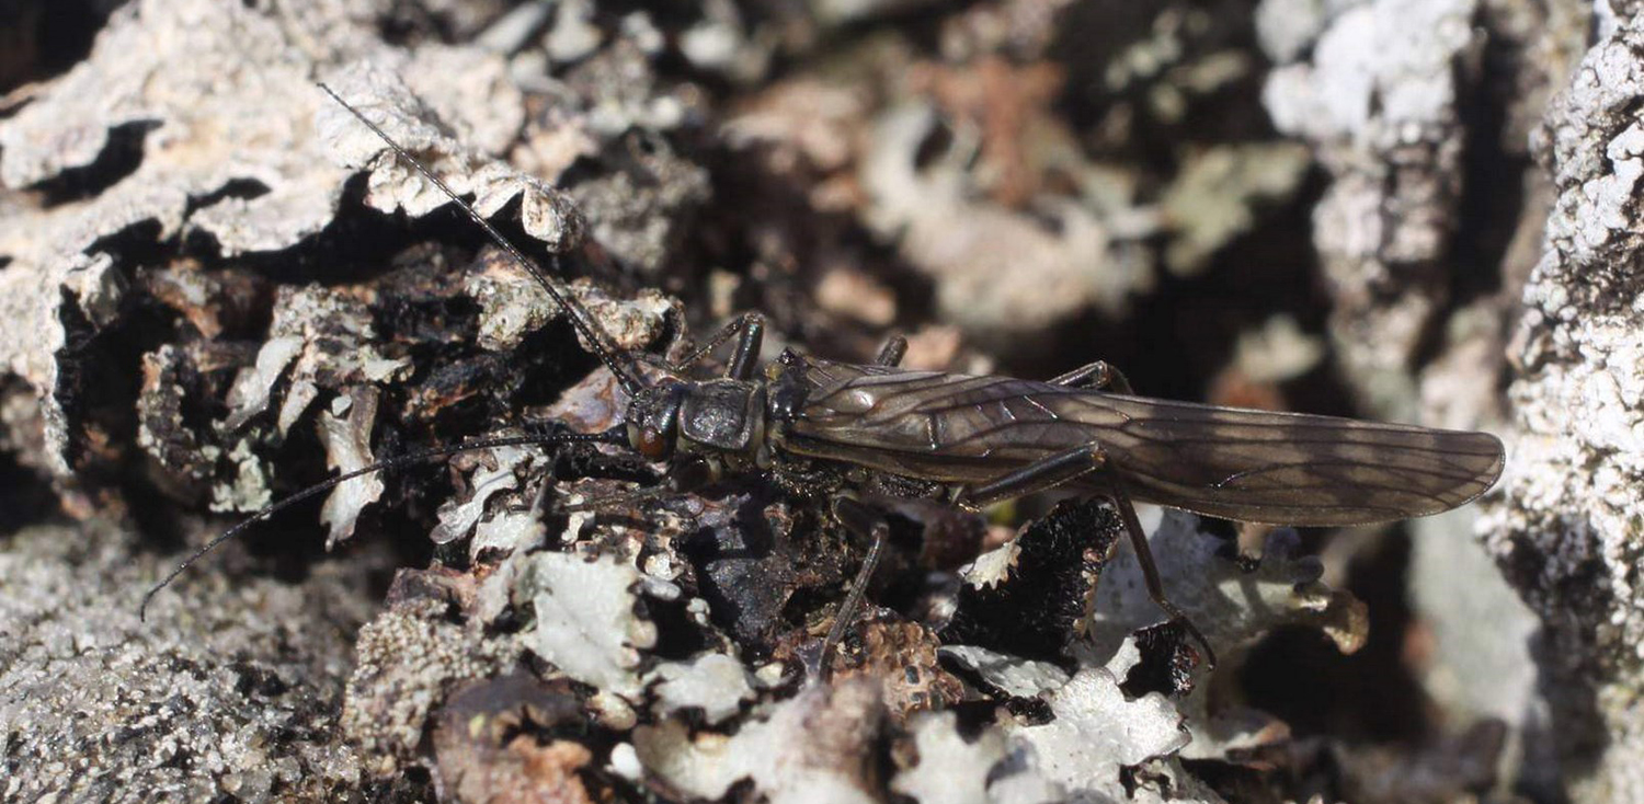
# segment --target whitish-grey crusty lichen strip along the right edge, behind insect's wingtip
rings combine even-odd
[[[1636,584],[1644,321],[1632,270],[1641,245],[1632,187],[1644,174],[1641,41],[1639,18],[1621,15],[1535,138],[1557,202],[1514,335],[1514,469],[1483,524],[1491,554],[1545,628],[1542,689],[1559,735],[1550,745],[1563,763],[1588,766],[1573,788],[1578,801],[1644,801],[1634,702],[1644,679]]]

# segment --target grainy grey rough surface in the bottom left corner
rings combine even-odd
[[[163,567],[107,524],[38,524],[0,552],[8,801],[335,799],[372,788],[339,740],[355,589],[385,556],[301,584],[201,574],[136,618]],[[386,789],[386,786],[381,786]]]

